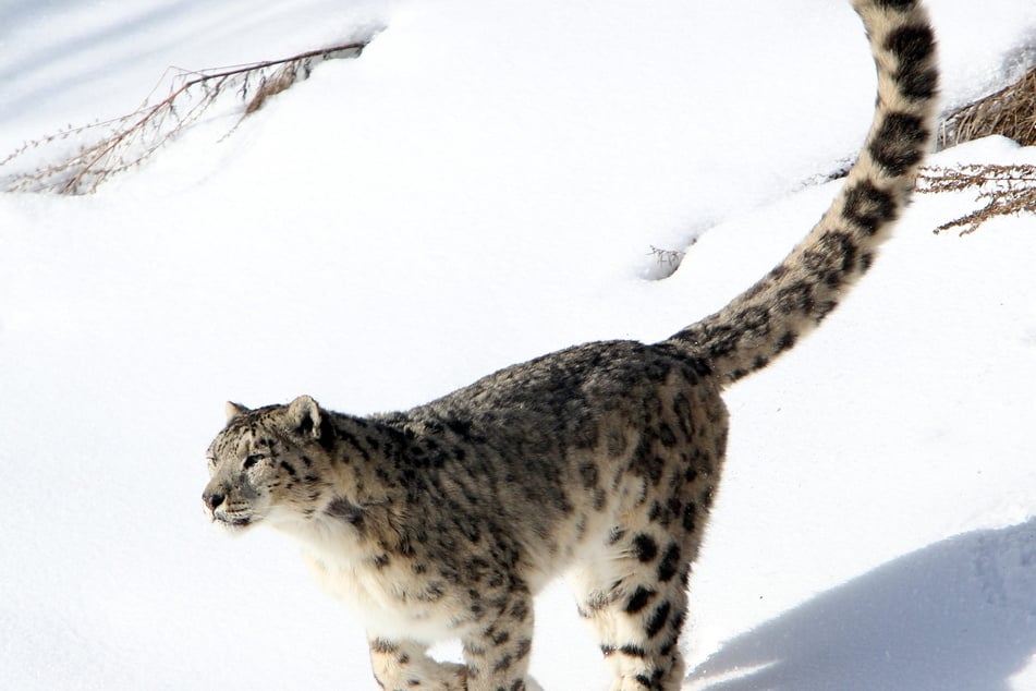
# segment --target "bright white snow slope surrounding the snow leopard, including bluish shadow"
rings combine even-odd
[[[933,4],[948,104],[1032,58],[1028,0]],[[0,151],[169,65],[371,27],[230,137],[214,116],[95,195],[0,195],[0,688],[371,688],[293,545],[206,524],[222,401],[402,409],[662,338],[806,232],[837,185],[803,181],[873,106],[841,2],[22,1]],[[959,160],[1036,154],[935,162]],[[971,205],[919,197],[825,327],[731,390],[687,689],[1036,689],[1036,234],[930,232]],[[606,688],[563,585],[537,618],[543,686]]]

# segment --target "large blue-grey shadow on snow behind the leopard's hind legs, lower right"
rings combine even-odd
[[[736,639],[697,691],[1007,691],[1036,653],[1036,518],[894,559]]]

